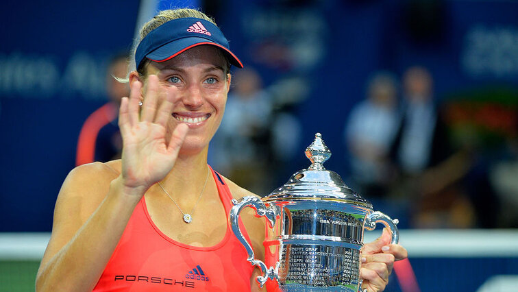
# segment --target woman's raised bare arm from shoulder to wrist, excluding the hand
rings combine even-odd
[[[92,291],[110,260],[142,195],[124,188],[120,176],[108,183],[90,179],[93,173],[109,175],[101,167],[79,167],[66,178],[36,291]],[[106,194],[106,188],[108,195],[99,195]]]

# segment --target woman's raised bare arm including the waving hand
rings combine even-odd
[[[148,82],[142,110],[138,103],[143,82],[138,78],[130,82],[130,98],[121,100],[121,174],[114,175],[97,163],[78,167],[66,178],[56,202],[51,240],[36,276],[37,291],[91,291],[136,204],[173,169],[188,126],[178,125],[168,136],[174,97],[159,98],[155,75]]]

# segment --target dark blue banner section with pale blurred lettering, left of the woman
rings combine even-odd
[[[0,231],[49,231],[82,123],[106,103],[138,1],[8,1],[0,10]]]

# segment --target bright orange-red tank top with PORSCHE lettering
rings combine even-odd
[[[211,171],[228,219],[232,194]],[[217,245],[185,245],[158,230],[143,197],[93,291],[250,291],[253,269],[229,225]]]

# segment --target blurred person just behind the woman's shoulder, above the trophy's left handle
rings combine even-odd
[[[236,184],[265,195],[271,191],[271,97],[254,69],[238,71],[232,81],[210,163]]]

